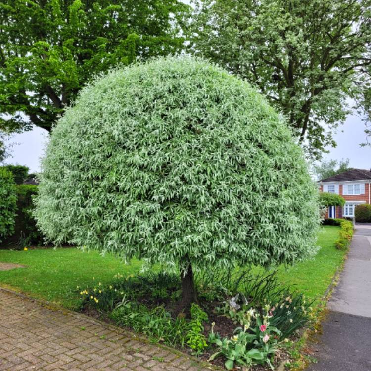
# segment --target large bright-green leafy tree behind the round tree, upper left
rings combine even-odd
[[[95,74],[181,50],[188,8],[178,0],[1,1],[0,129],[50,131]]]

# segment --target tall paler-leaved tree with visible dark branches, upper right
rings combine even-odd
[[[256,85],[318,158],[347,102],[368,104],[370,16],[371,0],[196,0],[190,49]]]

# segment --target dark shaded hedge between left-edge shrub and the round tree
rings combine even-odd
[[[43,242],[43,235],[36,227],[36,221],[31,215],[34,207],[32,197],[37,194],[37,185],[17,185],[17,209],[15,228],[2,244],[4,248],[23,248],[28,245],[39,245]]]

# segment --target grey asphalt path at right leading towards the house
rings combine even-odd
[[[371,370],[371,226],[355,228],[323,335],[314,346],[318,363],[306,371]]]

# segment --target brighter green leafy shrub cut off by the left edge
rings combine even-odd
[[[0,168],[0,242],[14,232],[16,190],[13,174]]]

